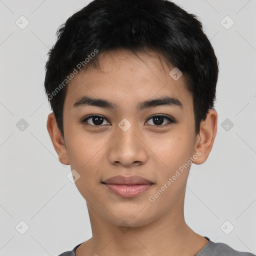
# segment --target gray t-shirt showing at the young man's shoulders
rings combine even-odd
[[[256,256],[250,252],[240,252],[232,249],[225,243],[212,242],[207,236],[204,236],[208,242],[194,256]],[[61,253],[58,256],[75,256],[76,248],[82,243],[76,245],[73,250]]]

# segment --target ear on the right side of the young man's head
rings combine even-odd
[[[208,158],[217,132],[217,116],[215,109],[209,109],[206,119],[200,123],[200,131],[195,139],[195,152],[199,151],[201,154],[193,160],[195,164],[201,164]]]

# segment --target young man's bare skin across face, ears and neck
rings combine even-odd
[[[48,115],[47,129],[59,161],[79,173],[75,185],[88,207],[92,237],[76,249],[77,256],[193,256],[207,243],[184,220],[190,165],[155,201],[148,198],[189,157],[195,164],[207,159],[216,135],[217,112],[210,109],[199,134],[195,134],[192,95],[184,75],[174,80],[169,75],[173,66],[159,53],[138,56],[124,49],[99,53],[100,68],[75,75],[64,101],[64,138],[54,114]],[[117,107],[73,107],[85,95],[112,101]],[[166,95],[178,98],[182,108],[160,105],[136,109],[143,100]],[[106,119],[101,126],[95,125],[92,118],[87,123],[79,122],[89,114]],[[177,122],[164,119],[157,125],[149,119],[155,114],[165,114]],[[127,131],[118,126],[123,118],[131,124]],[[196,152],[200,155],[194,159]],[[139,175],[154,184],[135,197],[124,198],[101,183],[115,175]],[[126,232],[120,226],[126,226]]]

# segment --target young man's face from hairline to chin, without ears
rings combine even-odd
[[[191,160],[200,154],[184,76],[173,79],[173,67],[156,53],[138,56],[126,50],[99,54],[100,68],[70,81],[63,108],[75,185],[90,211],[117,225],[139,226],[180,211]],[[154,100],[159,98],[165,100]],[[117,175],[149,182],[102,183]]]

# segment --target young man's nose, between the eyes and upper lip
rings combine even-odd
[[[147,159],[147,147],[143,136],[135,125],[124,131],[116,128],[116,135],[110,142],[108,160],[113,165],[137,166],[144,164]]]

